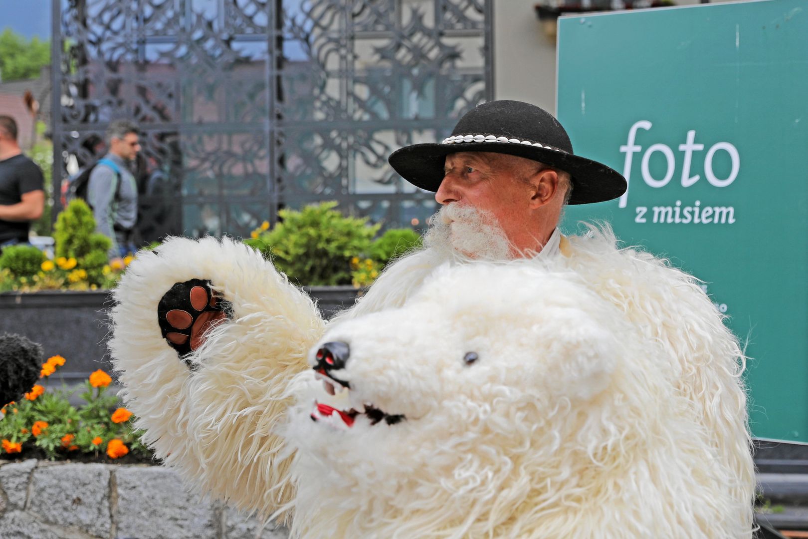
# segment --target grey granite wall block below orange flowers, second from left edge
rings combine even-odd
[[[103,464],[64,464],[37,468],[32,474],[28,510],[41,520],[75,526],[90,535],[112,532],[109,510],[110,470]]]

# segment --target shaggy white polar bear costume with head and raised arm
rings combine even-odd
[[[183,358],[156,310],[191,279],[229,319]],[[145,443],[292,537],[751,537],[738,342],[692,277],[608,230],[552,259],[418,251],[327,325],[229,239],[141,252],[115,297]]]

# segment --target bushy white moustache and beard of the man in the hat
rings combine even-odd
[[[430,218],[423,243],[447,259],[510,260],[505,231],[490,213],[452,202]]]

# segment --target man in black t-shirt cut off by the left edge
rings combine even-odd
[[[17,122],[0,116],[0,253],[26,243],[31,222],[42,215],[45,193],[42,171],[17,143]]]

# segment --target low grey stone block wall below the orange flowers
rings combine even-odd
[[[2,539],[286,539],[149,465],[28,460],[0,465]]]

